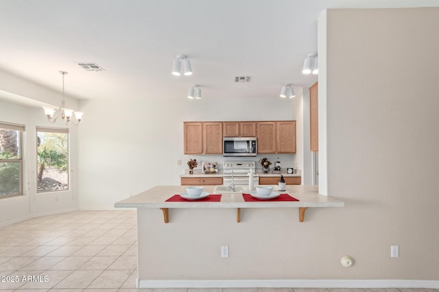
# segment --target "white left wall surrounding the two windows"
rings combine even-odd
[[[11,198],[0,199],[0,226],[11,224],[23,220],[27,217],[45,215],[51,213],[59,213],[78,209],[78,128],[75,126],[70,128],[70,154],[71,154],[71,182],[69,191],[56,191],[45,194],[36,194],[36,126],[44,127],[61,127],[65,128],[65,124],[57,122],[50,124],[44,116],[41,107],[27,106],[25,103],[32,105],[39,102],[24,96],[15,96],[27,92],[30,96],[45,96],[47,99],[41,98],[45,103],[51,103],[52,99],[58,96],[60,103],[61,94],[43,88],[40,85],[30,83],[0,71],[0,88],[8,89],[8,92],[2,94],[10,94],[13,96],[10,101],[0,101],[0,120],[2,122],[12,122],[16,124],[24,124],[26,131],[23,135],[23,194],[24,196],[14,196]],[[29,91],[29,89],[32,89]],[[14,103],[16,101],[17,103]],[[66,102],[71,107],[78,108],[78,104],[73,98],[66,98]],[[56,198],[58,197],[58,201]]]

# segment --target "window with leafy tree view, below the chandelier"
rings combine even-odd
[[[69,129],[36,127],[37,193],[69,190]]]

